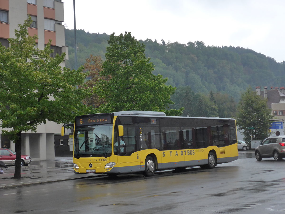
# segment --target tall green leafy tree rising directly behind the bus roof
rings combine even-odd
[[[113,33],[108,40],[106,61],[101,76],[111,76],[109,81],[99,80],[95,86],[100,99],[105,100],[98,108],[100,112],[126,110],[163,111],[166,114],[180,115],[181,110],[166,110],[170,95],[175,89],[167,86],[167,78],[154,75],[154,65],[144,54],[141,44],[131,33]]]

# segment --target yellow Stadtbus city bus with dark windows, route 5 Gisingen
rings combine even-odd
[[[214,168],[238,159],[235,119],[123,111],[77,116],[74,173],[142,173],[189,166]]]

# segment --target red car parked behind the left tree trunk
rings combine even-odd
[[[0,148],[0,161],[3,161],[6,165],[15,165],[16,152],[11,149]],[[21,155],[21,166],[27,166],[31,163],[31,157],[27,155]]]

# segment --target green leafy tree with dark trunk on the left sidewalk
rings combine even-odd
[[[28,36],[25,20],[15,30],[15,38],[8,39],[10,47],[0,45],[0,120],[2,133],[15,143],[14,178],[21,178],[21,133],[31,130],[46,120],[56,123],[73,121],[74,115],[86,112],[81,103],[87,96],[82,68],[62,68],[65,53],[52,58],[50,42],[44,50],[35,49],[37,36]]]

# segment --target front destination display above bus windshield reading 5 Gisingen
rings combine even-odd
[[[76,125],[77,126],[86,126],[86,125],[99,125],[99,124],[111,124],[111,115],[97,115],[89,117],[77,117]]]

